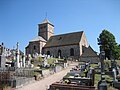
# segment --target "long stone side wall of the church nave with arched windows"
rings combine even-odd
[[[74,56],[70,56],[70,49],[74,49]],[[79,58],[80,57],[80,48],[79,45],[69,45],[69,46],[59,46],[59,47],[51,47],[44,48],[44,54],[50,52],[50,55],[54,57],[59,57],[58,51],[61,51],[61,57],[71,57],[71,58]]]

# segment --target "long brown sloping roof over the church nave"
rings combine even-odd
[[[82,34],[83,31],[52,36],[45,47],[79,44]]]

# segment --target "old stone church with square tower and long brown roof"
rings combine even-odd
[[[26,54],[80,59],[83,48],[89,48],[84,31],[54,35],[54,25],[45,19],[38,24],[38,36],[29,41]]]

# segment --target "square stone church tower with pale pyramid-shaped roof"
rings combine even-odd
[[[38,24],[38,36],[41,36],[48,41],[53,35],[54,25],[47,18],[45,18],[43,22]]]

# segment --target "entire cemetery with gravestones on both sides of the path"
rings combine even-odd
[[[66,69],[73,61],[79,64],[67,72],[62,80],[51,84],[48,90],[120,89],[120,60],[115,60],[112,53],[108,60],[105,58],[105,51],[100,48],[97,56],[99,60],[95,61],[92,59],[93,56],[84,57],[87,58],[85,61],[83,58],[77,60],[61,57],[60,53],[58,55],[58,58],[37,53],[25,55],[20,51],[18,42],[16,48],[12,50],[5,48],[2,43],[0,45],[0,90],[14,90],[39,81]]]

